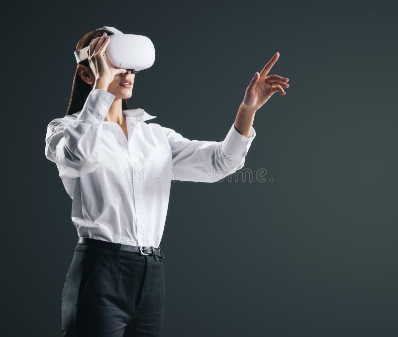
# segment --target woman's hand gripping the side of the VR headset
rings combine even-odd
[[[101,82],[105,85],[109,85],[116,74],[126,71],[123,68],[115,68],[106,61],[104,53],[109,41],[109,36],[104,33],[90,42],[90,48],[87,51],[90,68],[94,73],[96,82]]]

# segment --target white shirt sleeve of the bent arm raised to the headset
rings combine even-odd
[[[47,125],[45,156],[57,164],[60,177],[77,178],[97,168],[103,119],[114,98],[105,90],[94,89],[78,118],[67,115]]]

